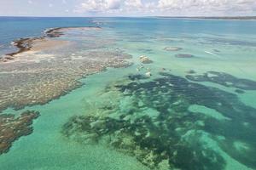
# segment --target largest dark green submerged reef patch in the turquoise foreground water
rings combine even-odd
[[[223,152],[256,168],[256,109],[236,94],[161,72],[154,80],[130,75],[91,103],[86,115],[63,126],[68,139],[107,144],[151,169],[224,169]],[[222,116],[190,111],[191,105]]]

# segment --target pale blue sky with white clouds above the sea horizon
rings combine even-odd
[[[256,15],[256,0],[0,0],[0,16],[238,15]]]

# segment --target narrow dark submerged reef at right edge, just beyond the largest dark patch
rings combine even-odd
[[[244,78],[237,78],[224,72],[207,71],[203,75],[187,75],[186,78],[194,82],[214,82],[229,88],[256,90],[256,82]],[[241,91],[237,92],[239,93]]]

